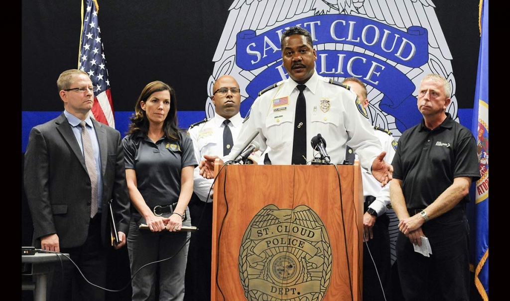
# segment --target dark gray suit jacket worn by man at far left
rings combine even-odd
[[[119,131],[92,119],[103,173],[101,238],[111,244],[108,201],[113,199],[117,231],[127,235],[130,198]],[[62,113],[30,131],[25,151],[24,187],[34,222],[34,239],[57,233],[60,248],[79,247],[90,223],[90,178],[71,125]]]

